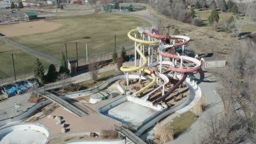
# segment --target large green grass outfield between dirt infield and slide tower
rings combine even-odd
[[[117,35],[117,47],[133,44],[127,33],[137,26],[149,26],[146,20],[123,14],[103,13],[83,16],[72,16],[61,19],[46,20],[61,23],[61,28],[47,33],[37,33],[10,37],[35,50],[60,58],[68,47],[68,57],[75,57],[75,41],[78,43],[79,58],[85,57],[85,44],[88,53],[109,52],[114,49],[114,35]]]

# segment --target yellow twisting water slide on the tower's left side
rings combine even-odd
[[[149,71],[148,69],[144,69],[144,67],[147,65],[147,58],[141,52],[140,47],[145,45],[145,44],[151,44],[151,45],[159,44],[159,42],[158,41],[146,41],[146,40],[141,40],[141,39],[137,39],[135,37],[132,37],[132,34],[136,33],[136,32],[138,32],[137,28],[132,29],[127,35],[131,40],[140,43],[140,44],[137,45],[136,51],[138,52],[139,55],[141,55],[141,57],[143,59],[143,64],[139,67],[123,66],[123,67],[120,68],[120,70],[123,71],[124,73],[128,73],[128,72],[137,71],[137,70],[141,69],[145,73],[148,73],[149,75],[152,76],[152,82],[150,82],[147,86],[145,86],[145,87],[141,88],[139,91],[137,91],[136,92],[136,95],[137,95],[137,94],[143,93],[144,91],[146,91],[146,89],[152,87],[154,85],[154,83],[156,82],[155,75],[151,71]]]

